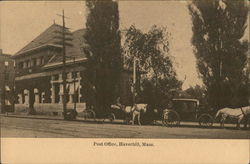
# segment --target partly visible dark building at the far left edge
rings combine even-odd
[[[14,109],[14,60],[0,49],[0,111]]]

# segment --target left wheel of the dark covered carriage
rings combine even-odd
[[[163,115],[162,123],[165,126],[178,126],[180,125],[180,116],[176,111],[170,110]]]

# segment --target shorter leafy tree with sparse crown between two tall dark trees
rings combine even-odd
[[[139,71],[146,72],[142,79],[144,100],[154,107],[163,106],[170,99],[171,89],[180,88],[169,55],[170,33],[166,28],[152,26],[143,33],[132,25],[125,34],[124,52],[126,64],[132,67],[133,60],[139,60]]]

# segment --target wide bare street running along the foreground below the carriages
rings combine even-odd
[[[123,125],[93,121],[64,121],[59,119],[1,118],[1,137],[39,138],[217,138],[248,139],[249,130],[229,127],[211,129],[197,127],[197,123],[183,123],[181,127],[160,125]]]

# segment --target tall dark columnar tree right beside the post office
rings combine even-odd
[[[100,116],[115,97],[122,68],[119,11],[112,0],[87,0],[86,6],[86,74],[96,91],[96,112]]]

